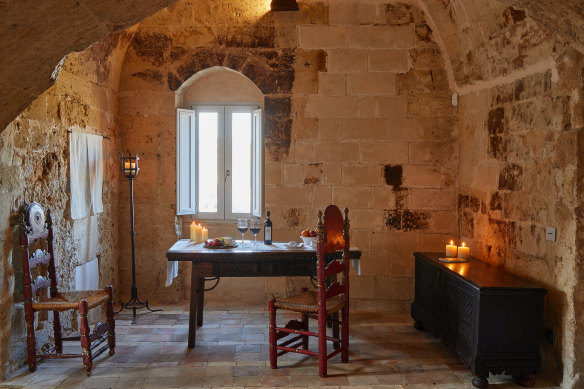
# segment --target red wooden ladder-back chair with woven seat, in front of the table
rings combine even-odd
[[[349,210],[345,208],[345,219],[339,208],[329,205],[324,212],[318,211],[317,281],[316,292],[304,289],[300,294],[283,299],[272,298],[270,315],[270,365],[276,369],[277,357],[288,352],[318,356],[318,373],[327,376],[327,361],[341,353],[341,361],[349,361]],[[340,259],[331,259],[342,250]],[[338,258],[338,255],[336,256]],[[336,275],[342,273],[342,281]],[[327,279],[333,282],[327,286]],[[301,320],[291,320],[285,327],[276,326],[276,311],[286,309],[299,312]],[[337,320],[342,311],[341,321]],[[327,318],[328,317],[328,318]],[[309,331],[308,319],[318,321],[318,332]],[[327,336],[327,323],[333,325],[332,336]],[[341,336],[338,326],[341,326]],[[289,338],[289,335],[292,336]],[[318,352],[308,349],[309,336],[318,338]],[[287,338],[278,344],[280,339]],[[327,341],[335,350],[327,353]]]

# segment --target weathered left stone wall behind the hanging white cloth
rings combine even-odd
[[[61,290],[73,290],[76,266],[92,259],[86,255],[90,239],[98,240],[100,287],[116,283],[120,177],[115,117],[129,37],[126,32],[116,34],[82,53],[70,54],[55,84],[0,134],[0,380],[26,361],[17,226],[25,203],[38,201],[51,210]],[[95,217],[70,217],[69,129],[111,138],[103,142],[104,212]],[[52,315],[37,314],[38,348],[52,340],[51,322]],[[66,331],[77,326],[70,314],[61,322]]]

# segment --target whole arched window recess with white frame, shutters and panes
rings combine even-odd
[[[177,91],[177,214],[261,216],[263,94],[245,76],[215,67]]]

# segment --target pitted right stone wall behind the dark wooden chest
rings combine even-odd
[[[547,288],[543,324],[554,344],[542,336],[544,370],[578,387],[584,55],[523,10],[485,3],[476,34],[490,41],[452,58],[462,93],[459,235],[473,255]]]

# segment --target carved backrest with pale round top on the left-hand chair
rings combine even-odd
[[[53,222],[51,213],[47,212],[45,216],[39,203],[30,203],[24,208],[20,248],[25,304],[32,302],[34,295],[47,288],[50,288],[50,297],[55,297],[58,290],[53,254]]]

